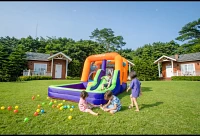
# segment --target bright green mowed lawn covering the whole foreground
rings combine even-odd
[[[95,108],[99,116],[80,112],[75,102],[57,100],[57,104],[74,105],[72,112],[49,106],[48,86],[73,82],[79,81],[0,83],[0,106],[6,107],[0,110],[0,134],[200,134],[200,82],[142,82],[140,112],[128,109],[130,92],[124,92],[118,95],[122,103],[120,112],[111,115]],[[33,95],[35,100],[31,99]],[[33,116],[37,105],[43,102],[45,113]],[[7,110],[16,105],[17,114],[13,109]],[[24,122],[26,117],[28,122]]]

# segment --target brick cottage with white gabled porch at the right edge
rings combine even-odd
[[[154,63],[158,64],[159,77],[163,79],[171,79],[172,76],[200,76],[200,52],[163,55]]]

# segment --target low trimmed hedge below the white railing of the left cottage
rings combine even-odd
[[[51,76],[20,76],[18,81],[30,81],[30,80],[50,80]]]

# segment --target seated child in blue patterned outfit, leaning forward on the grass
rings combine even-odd
[[[108,103],[102,106],[100,105],[100,108],[104,111],[110,112],[111,114],[114,114],[115,112],[119,111],[121,109],[121,103],[118,97],[114,96],[112,94],[112,91],[107,91],[104,95],[104,99],[108,100]]]

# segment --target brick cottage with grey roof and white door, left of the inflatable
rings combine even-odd
[[[44,54],[26,52],[28,70],[23,71],[24,76],[46,75],[56,79],[67,77],[68,64],[72,59],[62,52]]]

